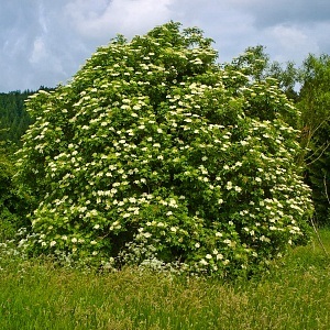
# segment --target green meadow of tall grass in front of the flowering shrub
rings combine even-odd
[[[330,230],[322,230],[330,253]],[[317,240],[251,280],[107,275],[0,260],[0,329],[330,329],[330,260]]]

